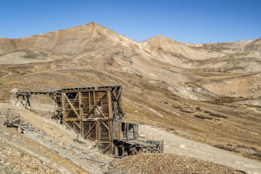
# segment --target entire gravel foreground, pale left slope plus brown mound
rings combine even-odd
[[[52,120],[25,109],[12,108],[11,113],[18,111],[34,129],[21,134],[16,128],[3,126],[7,111],[0,109],[0,173],[241,173],[213,162],[168,153],[113,160],[89,149],[91,144],[85,140],[75,142],[70,132]]]

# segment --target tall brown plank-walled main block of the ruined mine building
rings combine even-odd
[[[92,87],[61,89],[63,122],[83,138],[95,141],[103,152],[115,153],[113,138],[120,139],[120,124],[124,113],[120,96],[122,87]]]

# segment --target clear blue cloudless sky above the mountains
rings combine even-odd
[[[0,37],[95,22],[135,41],[208,43],[261,37],[261,0],[0,0]]]

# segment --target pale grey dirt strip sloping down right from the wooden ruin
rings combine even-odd
[[[166,153],[197,157],[201,160],[230,166],[241,171],[246,171],[247,173],[261,174],[261,162],[229,153],[229,151],[218,149],[214,146],[181,138],[164,129],[150,127],[148,125],[139,125],[139,133],[141,133],[142,137],[145,135],[145,137],[151,139],[163,139],[164,151]]]

